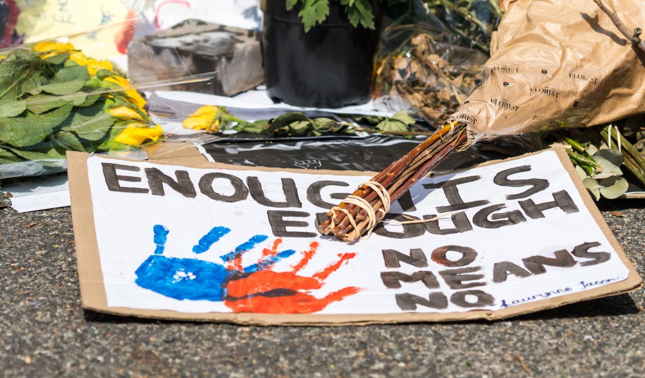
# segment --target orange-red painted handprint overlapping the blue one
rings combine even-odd
[[[277,239],[271,249],[265,248],[261,260],[275,256],[281,242],[281,239]],[[359,292],[359,288],[347,287],[322,298],[310,293],[310,290],[322,288],[330,274],[355,256],[353,253],[339,254],[338,261],[311,277],[298,275],[315,255],[317,248],[317,242],[311,243],[310,249],[303,252],[301,260],[289,272],[274,272],[272,266],[269,266],[250,275],[240,275],[239,278],[233,276],[226,284],[228,295],[224,303],[233,312],[313,313]],[[227,268],[242,272],[241,256],[230,261]]]

